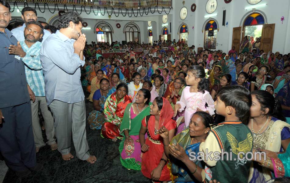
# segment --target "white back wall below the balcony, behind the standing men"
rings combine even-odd
[[[20,11],[23,9],[24,5],[22,5],[21,3],[18,3],[18,7],[20,9]],[[34,7],[33,4],[29,4],[30,7]],[[51,10],[54,9],[54,5],[49,5]],[[40,4],[41,10],[43,11],[42,5]],[[13,5],[12,5],[13,8]],[[61,9],[61,8],[60,8]],[[72,11],[72,9],[70,9],[70,7],[68,6],[69,11]],[[78,12],[80,12],[80,9],[77,7]],[[46,21],[46,22],[50,22],[50,20],[52,20],[54,17],[58,17],[58,11],[56,10],[55,13],[50,13],[47,10],[46,7],[46,11],[44,13],[41,13],[38,8],[36,8],[36,11],[38,13],[38,17],[43,17],[41,19],[41,21]],[[101,10],[103,13],[103,9]],[[147,11],[147,10],[146,10]],[[152,12],[154,11],[154,9],[152,9]],[[166,12],[168,13],[169,10],[166,10]],[[136,10],[134,11],[135,15],[136,15]],[[161,9],[159,9],[159,12],[161,12]],[[97,13],[95,11],[95,13]],[[123,14],[125,13],[125,11],[123,10]],[[110,9],[109,9],[109,14],[111,14]],[[118,15],[118,12],[116,11],[116,14]],[[146,16],[145,13],[143,14],[143,16],[141,17],[140,14],[138,13],[138,16],[135,17],[134,15],[132,15],[132,17],[127,15],[124,17],[122,16],[121,12],[119,14],[119,16],[115,16],[114,13],[112,13],[111,15],[111,19],[109,19],[107,12],[105,13],[105,15],[94,15],[93,13],[87,15],[85,13],[84,10],[82,10],[82,14],[81,16],[84,18],[85,22],[88,23],[88,27],[91,27],[90,30],[83,30],[83,32],[86,34],[87,37],[87,41],[91,42],[91,41],[96,41],[96,34],[94,34],[94,27],[96,25],[97,22],[100,22],[102,20],[104,20],[107,23],[110,23],[111,26],[113,27],[114,30],[114,34],[112,35],[113,41],[125,41],[125,34],[123,33],[123,29],[126,23],[129,22],[133,22],[136,23],[138,25],[138,27],[140,28],[140,42],[142,43],[143,41],[145,43],[148,42],[148,24],[147,21],[152,21],[152,32],[153,32],[153,40],[158,40],[159,35],[161,30],[159,30],[160,27],[162,27],[162,21],[159,21],[159,19],[161,20],[162,15],[164,15],[165,12],[163,11],[161,14],[159,14],[157,12],[157,9],[155,10],[155,13],[152,14],[149,10],[148,15]],[[172,11],[170,12],[170,14],[172,14]],[[169,14],[169,16],[171,17],[171,15]],[[129,13],[129,15],[131,15],[131,12]],[[142,15],[142,10],[141,10],[141,15]],[[17,12],[16,10],[14,12],[12,12],[12,17],[16,17],[18,19],[21,19],[21,12]],[[160,18],[161,17],[161,18]],[[40,20],[40,19],[39,19]],[[121,21],[120,21],[121,20]],[[168,20],[171,20],[171,18],[168,18]],[[121,28],[117,28],[116,24],[120,23]],[[162,29],[162,28],[161,28]]]

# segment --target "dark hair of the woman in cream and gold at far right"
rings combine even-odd
[[[279,120],[286,121],[280,102],[274,98],[268,91],[255,90],[251,92],[251,95],[255,95],[256,99],[261,104],[261,110],[265,111],[265,108],[269,109],[268,115],[273,116]]]

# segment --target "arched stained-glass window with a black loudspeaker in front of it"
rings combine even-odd
[[[214,20],[209,20],[205,25],[205,49],[216,49],[217,24]]]

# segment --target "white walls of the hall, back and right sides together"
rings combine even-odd
[[[204,16],[207,15],[205,11],[206,0],[186,0],[185,5],[182,4],[182,1],[172,0],[171,12],[168,15],[168,26],[169,34],[171,34],[171,40],[179,39],[178,28],[182,23],[187,24],[188,26],[188,45],[195,45],[196,48],[204,46],[204,33],[201,30],[204,29],[203,24],[208,18]],[[232,31],[233,27],[239,27],[242,17],[247,14],[251,9],[245,10],[245,7],[251,6],[248,4],[246,0],[233,0],[232,2],[226,4],[224,0],[217,0],[217,9],[213,14],[217,14],[217,16],[213,16],[212,18],[216,19],[219,24],[219,32],[217,34],[217,45],[216,49],[222,49],[224,52],[227,52],[231,48],[232,44]],[[190,6],[195,3],[197,5],[196,11],[191,12]],[[266,6],[256,8],[266,14],[267,23],[275,23],[275,33],[274,33],[274,42],[272,51],[280,51],[282,53],[290,52],[290,33],[287,30],[290,30],[290,1],[289,0],[262,0],[260,4],[267,4]],[[30,5],[34,7],[34,5]],[[185,20],[181,20],[179,18],[180,9],[185,6],[187,7],[187,17]],[[19,5],[20,10],[23,8],[23,5]],[[52,7],[52,6],[51,6]],[[54,6],[53,6],[54,7]],[[47,8],[46,8],[47,9]],[[223,10],[227,10],[226,13],[226,22],[229,23],[228,27],[222,26],[223,20]],[[43,9],[42,9],[43,10]],[[161,9],[160,9],[161,10]],[[159,10],[159,11],[160,11]],[[80,9],[78,9],[80,11]],[[149,11],[150,12],[150,11]],[[109,12],[110,13],[110,12]],[[49,11],[45,11],[45,13],[40,13],[38,10],[38,16],[43,17],[47,22],[52,19],[54,16],[57,16],[58,12],[50,13]],[[142,13],[141,13],[142,14]],[[141,30],[141,42],[148,42],[147,33],[148,33],[148,25],[147,21],[152,21],[152,32],[153,32],[153,40],[158,40],[159,35],[161,35],[162,31],[162,15],[165,13],[149,13],[148,16],[141,17],[123,17],[120,13],[120,16],[114,16],[114,13],[109,20],[107,13],[104,16],[95,16],[94,14],[87,15],[84,13],[81,16],[87,21],[89,26],[91,26],[91,30],[84,30],[87,35],[88,41],[95,41],[96,35],[93,33],[93,28],[97,21],[104,20],[110,23],[114,29],[113,41],[122,41],[125,40],[125,34],[123,33],[124,25],[130,21],[135,22]],[[17,13],[14,11],[12,13],[14,17],[20,17],[21,13]],[[285,21],[281,24],[281,16],[285,17]],[[116,22],[116,20],[123,20]],[[244,20],[242,20],[243,22]],[[171,32],[170,32],[170,22],[171,22]],[[121,24],[121,28],[118,29],[116,27],[116,23]],[[88,26],[88,27],[89,27]],[[192,26],[194,26],[194,30],[192,30]]]

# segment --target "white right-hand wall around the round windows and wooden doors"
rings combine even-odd
[[[188,10],[188,15],[186,20],[184,21],[188,25],[189,40],[188,43],[191,45],[193,43],[196,48],[204,46],[204,33],[201,30],[204,29],[203,24],[205,20],[205,15],[208,15],[205,11],[205,4],[207,1],[186,1],[185,6]],[[192,3],[197,5],[196,11],[191,12],[190,6]],[[262,0],[259,4],[267,4],[266,6],[258,7],[257,10],[261,10],[266,14],[267,23],[275,23],[275,33],[274,33],[274,42],[273,42],[273,52],[280,51],[283,53],[290,52],[290,33],[288,31],[290,28],[290,1],[289,0]],[[178,31],[178,26],[180,24],[179,21],[179,11],[182,7],[182,2],[174,1],[174,13],[173,13],[173,22],[174,26],[177,27],[176,31]],[[217,14],[217,16],[213,16],[212,18],[216,19],[219,23],[219,32],[217,33],[217,43],[221,44],[216,47],[216,49],[222,49],[224,52],[227,52],[231,49],[232,45],[232,32],[233,27],[239,27],[240,21],[242,17],[251,11],[251,9],[244,9],[245,7],[252,6],[248,4],[246,0],[233,0],[232,2],[226,4],[224,0],[217,0],[217,9],[212,14]],[[222,26],[223,21],[223,10],[226,11],[226,22],[229,23],[228,27]],[[192,15],[192,16],[191,16]],[[281,16],[285,17],[285,21],[281,24]],[[243,20],[244,21],[244,20]],[[243,22],[242,21],[242,22]],[[192,26],[194,25],[194,36],[191,36]],[[173,38],[178,38],[177,32],[174,34]]]

